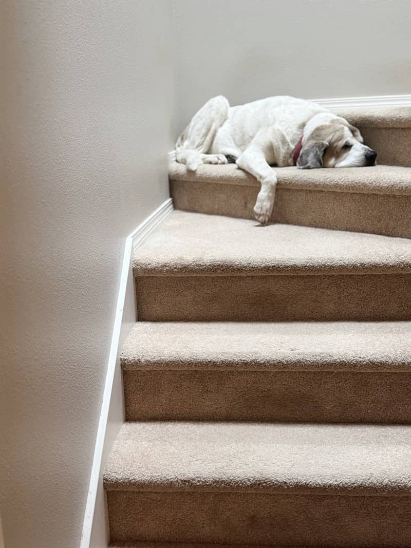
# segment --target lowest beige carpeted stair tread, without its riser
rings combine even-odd
[[[125,423],[107,490],[411,495],[411,426]]]

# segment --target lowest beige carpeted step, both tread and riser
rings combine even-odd
[[[411,545],[411,427],[127,423],[104,482],[111,539]]]

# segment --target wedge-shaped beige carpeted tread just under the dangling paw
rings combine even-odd
[[[174,211],[136,250],[136,276],[411,272],[411,239]]]

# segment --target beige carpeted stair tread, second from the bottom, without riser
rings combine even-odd
[[[138,322],[123,369],[411,372],[411,322]]]

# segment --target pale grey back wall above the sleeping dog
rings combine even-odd
[[[410,93],[409,0],[174,0],[178,130],[210,97]]]

